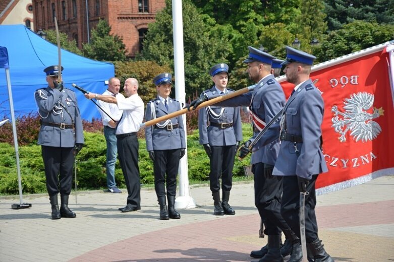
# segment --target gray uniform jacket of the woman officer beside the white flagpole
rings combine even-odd
[[[155,100],[149,101],[146,105],[145,111],[145,121],[152,120],[152,111],[151,106],[154,106],[156,118],[167,115],[169,113],[178,111],[181,109],[181,105],[177,100],[171,99],[168,97],[168,110],[165,108],[160,99],[156,98]],[[178,124],[178,128],[174,128],[173,130],[168,130],[167,127],[159,128],[158,125],[163,124],[164,122],[160,122],[158,124],[149,126],[145,129],[145,141],[146,141],[146,150],[171,150],[171,149],[180,149],[186,148],[186,140],[185,140],[185,129],[183,126],[182,116],[177,116],[170,119],[170,123],[172,125]]]

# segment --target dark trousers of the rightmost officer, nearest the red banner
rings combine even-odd
[[[307,243],[317,239],[317,221],[315,214],[316,191],[315,183],[318,175],[313,175],[306,190],[305,197],[305,237]],[[298,189],[297,176],[284,176],[281,213],[283,218],[300,237],[300,190]]]

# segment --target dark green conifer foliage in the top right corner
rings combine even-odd
[[[328,30],[355,20],[394,24],[394,0],[324,0]]]

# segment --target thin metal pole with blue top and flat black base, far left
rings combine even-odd
[[[11,92],[10,67],[9,67],[9,63],[8,63],[8,51],[7,51],[6,47],[0,47],[0,68],[4,68],[6,70],[8,97],[10,99],[12,132],[14,135],[14,147],[15,147],[15,155],[16,155],[16,160],[17,160],[17,172],[18,172],[19,204],[12,204],[11,208],[12,209],[30,208],[31,204],[23,203],[23,198],[22,198],[22,180],[21,180],[21,167],[19,165],[17,127],[16,127],[16,123],[15,123],[14,102],[12,99],[12,92]]]

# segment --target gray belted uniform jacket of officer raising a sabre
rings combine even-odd
[[[46,87],[37,89],[34,96],[42,120],[38,134],[38,145],[70,148],[75,144],[84,143],[82,119],[74,91],[64,88],[60,92],[57,89]],[[60,103],[67,108],[71,116]],[[75,127],[61,129],[45,123],[74,124]]]

